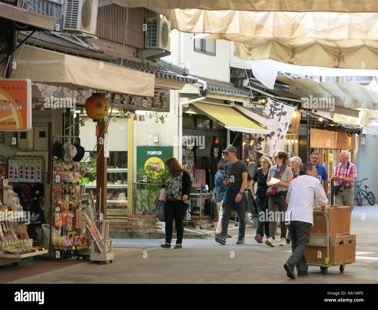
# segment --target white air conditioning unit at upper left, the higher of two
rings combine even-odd
[[[98,0],[66,0],[63,29],[95,34]]]

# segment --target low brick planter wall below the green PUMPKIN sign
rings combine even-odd
[[[109,232],[162,232],[161,224],[155,215],[127,215],[127,221],[110,222]]]

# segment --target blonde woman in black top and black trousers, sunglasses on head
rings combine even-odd
[[[269,222],[265,221],[266,215],[268,215],[268,204],[266,201],[266,190],[268,185],[266,181],[268,178],[269,168],[272,166],[272,162],[268,156],[262,156],[260,158],[261,168],[256,170],[251,182],[251,192],[252,196],[256,201],[257,214],[259,217],[259,223],[257,224],[257,231],[255,240],[258,243],[262,243],[262,237],[264,237],[264,231],[266,239],[269,239]],[[257,182],[256,194],[254,192],[254,186]]]

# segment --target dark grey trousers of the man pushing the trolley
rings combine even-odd
[[[307,271],[305,251],[310,243],[311,223],[291,221],[288,225],[291,237],[291,250],[293,254],[286,263],[297,267],[297,271]]]

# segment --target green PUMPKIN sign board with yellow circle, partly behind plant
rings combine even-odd
[[[153,166],[158,169],[167,169],[166,160],[173,156],[173,146],[137,146],[136,147],[136,179],[141,181],[142,176],[138,175],[138,169],[146,166]],[[158,179],[160,175],[152,176]]]

